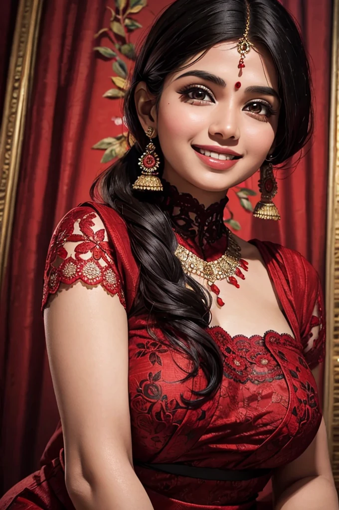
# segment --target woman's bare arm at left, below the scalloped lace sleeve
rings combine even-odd
[[[44,314],[72,502],[77,510],[153,510],[132,463],[128,326],[118,296],[61,285]]]

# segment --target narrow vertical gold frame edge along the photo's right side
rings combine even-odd
[[[339,0],[333,2],[329,173],[327,196],[327,355],[324,418],[332,471],[339,489]]]

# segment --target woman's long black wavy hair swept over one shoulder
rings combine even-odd
[[[249,0],[248,4],[249,38],[269,50],[278,74],[282,105],[273,157],[275,163],[283,163],[305,145],[312,133],[309,64],[296,24],[278,0]],[[133,256],[140,267],[140,285],[130,316],[147,314],[151,337],[157,339],[152,327],[156,324],[166,342],[191,361],[191,371],[181,381],[194,377],[199,367],[206,376],[206,387],[193,391],[196,398],[188,400],[181,395],[189,407],[203,404],[219,388],[222,355],[206,330],[211,321],[211,296],[184,274],[174,255],[177,240],[169,217],[154,198],[157,192],[132,190],[140,173],[138,158],[149,142],[138,119],[134,92],[139,82],[146,82],[158,109],[166,76],[185,69],[187,61],[200,52],[204,56],[217,43],[237,41],[244,34],[246,14],[245,0],[176,0],[162,12],[138,51],[124,100],[126,123],[136,141],[91,187],[92,199],[99,194],[125,220]],[[158,137],[152,141],[160,157],[161,176],[161,147]]]

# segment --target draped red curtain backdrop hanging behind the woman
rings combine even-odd
[[[149,0],[135,16],[143,28],[132,34],[132,42],[167,4]],[[253,219],[232,192],[230,205],[241,223],[241,237],[270,239],[298,249],[323,276],[332,7],[330,0],[283,4],[299,20],[313,61],[316,135],[293,175],[279,179],[275,200],[282,216],[279,224]],[[92,180],[107,166],[100,164],[102,152],[91,146],[123,131],[114,122],[121,116],[120,104],[102,97],[112,86],[111,63],[93,52],[99,45],[93,35],[109,24],[106,5],[114,8],[113,0],[49,0],[44,5],[1,303],[3,492],[38,469],[59,420],[40,315],[47,247],[57,222],[88,198]],[[111,46],[108,40],[105,45]],[[257,180],[255,175],[244,185],[257,190]]]

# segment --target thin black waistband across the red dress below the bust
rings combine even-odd
[[[259,478],[272,472],[272,469],[217,469],[187,466],[186,464],[148,464],[138,461],[133,462],[133,464],[143,468],[154,469],[155,471],[190,476],[191,478],[201,478],[203,480],[251,480],[252,478]]]

